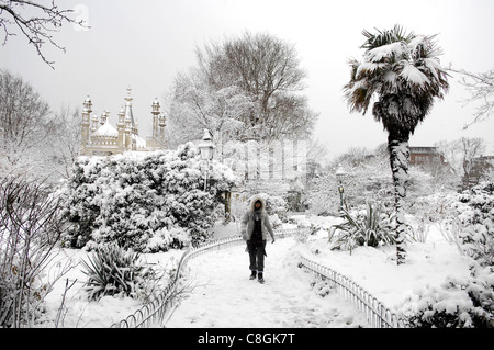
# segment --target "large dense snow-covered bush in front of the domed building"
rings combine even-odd
[[[232,170],[212,162],[204,191],[199,149],[80,157],[63,194],[71,223],[67,247],[116,241],[136,251],[166,251],[206,240]]]

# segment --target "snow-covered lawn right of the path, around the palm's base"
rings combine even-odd
[[[329,227],[339,218],[311,217],[308,222]],[[305,219],[307,221],[307,219]],[[461,256],[448,244],[436,227],[431,227],[425,242],[408,245],[406,263],[396,264],[396,248],[359,247],[348,251],[327,248],[327,232],[319,230],[299,251],[319,262],[374,295],[389,308],[397,309],[408,295],[424,287],[439,287],[448,276],[467,278],[472,259]]]

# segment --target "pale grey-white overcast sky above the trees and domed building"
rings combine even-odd
[[[329,156],[350,147],[373,149],[386,134],[371,113],[350,114],[343,100],[349,79],[347,61],[360,59],[362,30],[401,24],[417,34],[439,34],[441,64],[482,72],[494,68],[494,1],[492,0],[64,0],[88,20],[90,31],[65,25],[55,34],[64,54],[45,46],[55,70],[18,35],[0,46],[2,68],[21,75],[56,112],[81,108],[87,95],[93,113],[111,112],[112,123],[132,88],[134,116],[141,136],[150,136],[150,106],[164,95],[180,71],[195,65],[194,49],[205,43],[239,36],[245,31],[268,32],[295,46],[307,71],[305,94],[319,113],[315,137]],[[411,138],[411,146],[433,146],[462,136],[482,137],[494,155],[494,117],[474,124],[475,105],[464,105],[467,91],[451,77],[445,101],[437,101]],[[167,105],[164,106],[166,111]]]

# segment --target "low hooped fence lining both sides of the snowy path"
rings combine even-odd
[[[294,235],[301,235],[300,228],[294,229],[283,229],[276,232],[277,238],[285,238]],[[177,271],[168,284],[168,286],[150,303],[145,304],[134,314],[127,316],[125,319],[120,320],[111,326],[111,328],[147,328],[153,326],[160,326],[164,319],[177,306],[175,295],[177,293],[177,287],[180,283],[180,278],[183,275],[183,269],[190,259],[199,257],[210,251],[225,249],[233,246],[245,245],[244,239],[240,236],[231,236],[214,240],[201,245],[197,248],[190,248],[187,250],[178,266]],[[352,282],[350,279],[343,274],[333,271],[332,269],[324,267],[317,262],[314,262],[302,255],[301,264],[313,273],[319,274],[323,278],[329,279],[336,291],[344,295],[347,301],[349,301],[353,306],[356,306],[361,313],[366,315],[366,318],[371,327],[378,328],[398,328],[404,327],[404,323],[390,309],[384,307],[384,305],[373,297],[370,293],[364,291],[358,284]]]

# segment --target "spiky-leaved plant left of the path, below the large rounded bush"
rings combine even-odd
[[[139,259],[138,252],[116,244],[98,246],[88,261],[81,260],[82,272],[88,276],[85,284],[88,297],[98,301],[104,295],[135,297],[143,294],[146,284],[156,279],[156,272],[144,267]]]

